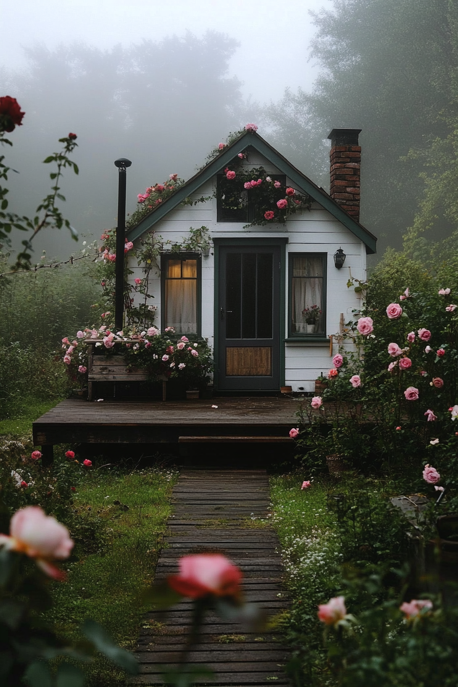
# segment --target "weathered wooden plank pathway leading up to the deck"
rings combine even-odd
[[[269,508],[268,477],[264,470],[185,470],[173,491],[174,514],[168,523],[165,548],[156,579],[178,572],[185,553],[216,551],[236,563],[244,574],[248,601],[270,616],[287,606],[282,587],[279,542],[269,526],[255,526]],[[254,518],[254,519],[253,519]],[[141,629],[137,659],[140,674],[130,684],[161,684],[160,666],[176,664],[191,620],[191,602],[183,600],[167,614],[148,613]],[[273,633],[255,633],[210,613],[200,643],[188,662],[214,671],[212,686],[254,687],[288,684],[284,664],[288,651]]]

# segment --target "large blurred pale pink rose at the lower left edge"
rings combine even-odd
[[[10,536],[0,534],[0,545],[10,551],[30,556],[50,577],[61,580],[65,575],[54,559],[66,559],[73,548],[69,530],[54,517],[46,515],[38,506],[27,506],[14,513],[10,522]]]

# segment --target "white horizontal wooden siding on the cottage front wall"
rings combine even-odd
[[[270,174],[278,174],[279,170],[259,153],[250,153],[249,162],[244,166],[264,166]],[[287,183],[294,186],[290,180]],[[205,183],[194,198],[210,196],[216,189],[216,177],[213,181]],[[328,254],[327,275],[327,316],[326,333],[339,333],[341,313],[344,320],[352,318],[352,311],[360,307],[360,299],[354,293],[354,289],[347,289],[347,280],[351,274],[356,279],[366,278],[366,251],[365,245],[352,232],[344,227],[336,218],[325,210],[319,203],[313,203],[309,210],[298,212],[290,216],[285,225],[268,225],[266,227],[251,227],[244,229],[243,223],[216,223],[216,199],[212,198],[198,205],[185,205],[171,210],[167,216],[154,225],[156,234],[163,240],[172,243],[182,243],[187,236],[190,227],[209,228],[211,236],[221,238],[240,238],[246,243],[251,238],[275,238],[288,236],[286,244],[286,259],[291,252],[326,253]],[[135,248],[137,248],[138,241]],[[342,269],[334,267],[334,253],[342,248],[346,254],[345,264]],[[288,263],[287,263],[288,264]],[[129,256],[129,267],[133,270],[131,280],[136,277],[143,278],[144,273],[133,256]],[[286,270],[287,271],[287,270]],[[161,293],[159,273],[150,279],[150,293],[154,300],[149,304],[158,306],[155,324],[161,323]],[[139,297],[135,297],[139,302]],[[286,304],[285,304],[285,333],[288,335],[288,275],[286,275]],[[202,258],[202,336],[208,339],[209,345],[214,346],[214,256],[212,251],[209,256]],[[332,367],[329,343],[282,343],[285,346],[285,383],[291,385],[294,391],[303,387],[305,391],[313,391],[314,380],[323,372],[327,374]],[[334,343],[333,353],[338,350]]]

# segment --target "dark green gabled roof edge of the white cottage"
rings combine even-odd
[[[144,232],[151,229],[159,220],[161,220],[170,210],[173,210],[176,205],[179,205],[185,198],[192,195],[198,188],[206,181],[211,179],[214,174],[218,174],[221,170],[227,167],[231,160],[233,160],[238,153],[242,153],[250,146],[255,148],[261,155],[264,155],[269,162],[279,169],[283,174],[286,174],[288,179],[297,186],[297,190],[307,193],[314,201],[322,205],[325,210],[328,210],[332,216],[341,222],[344,227],[357,236],[366,247],[367,253],[376,252],[377,239],[374,234],[371,234],[362,224],[352,218],[341,206],[332,200],[325,190],[319,188],[313,181],[310,181],[305,174],[300,172],[293,166],[286,157],[283,157],[275,148],[268,144],[257,133],[251,131],[244,131],[230,146],[209,162],[203,169],[201,169],[194,177],[191,177],[186,183],[180,186],[171,196],[168,197],[161,205],[158,205],[151,210],[135,227],[128,230],[128,239],[135,240]],[[262,231],[262,228],[260,229]]]

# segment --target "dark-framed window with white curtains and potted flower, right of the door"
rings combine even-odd
[[[326,254],[289,255],[289,331],[291,338],[325,337]]]

